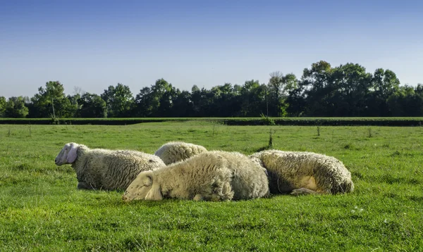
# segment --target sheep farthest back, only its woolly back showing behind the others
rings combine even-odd
[[[154,155],[159,156],[166,165],[169,165],[205,151],[207,149],[197,144],[185,143],[183,141],[169,141],[162,145]]]

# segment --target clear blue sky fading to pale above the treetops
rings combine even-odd
[[[423,1],[0,1],[0,96],[49,80],[135,96],[163,77],[190,90],[324,60],[423,83]]]

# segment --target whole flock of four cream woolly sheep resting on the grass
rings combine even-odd
[[[54,161],[71,164],[78,189],[125,190],[123,201],[231,201],[354,190],[340,160],[312,152],[267,150],[246,156],[171,141],[153,155],[68,143]]]

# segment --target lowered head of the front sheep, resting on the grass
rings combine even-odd
[[[122,196],[123,201],[146,200],[161,201],[160,185],[154,183],[154,175],[152,171],[140,172],[140,174],[130,183]]]

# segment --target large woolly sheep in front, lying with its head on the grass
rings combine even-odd
[[[231,201],[268,195],[269,180],[260,165],[238,152],[207,151],[164,168],[141,172],[122,199]]]

